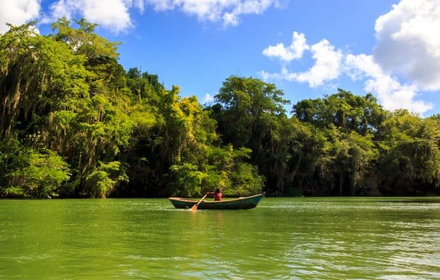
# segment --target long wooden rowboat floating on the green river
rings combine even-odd
[[[252,195],[251,197],[239,197],[233,200],[205,201],[198,204],[197,209],[251,209],[259,204],[263,194]],[[188,200],[182,197],[168,197],[168,200],[179,209],[190,209],[198,200]]]

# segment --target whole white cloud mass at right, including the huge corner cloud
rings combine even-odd
[[[375,30],[372,55],[344,54],[325,39],[309,49],[305,36],[294,33],[289,47],[278,43],[263,50],[263,55],[280,59],[280,72],[259,74],[265,80],[307,82],[310,87],[347,75],[364,83],[364,90],[375,93],[387,110],[404,108],[420,114],[431,110],[433,105],[421,100],[420,92],[440,90],[440,0],[401,0],[376,20]],[[303,56],[294,43],[312,53],[315,64],[308,71],[287,69],[286,62]]]

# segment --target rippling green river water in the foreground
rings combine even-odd
[[[0,279],[440,279],[440,197],[0,200]]]

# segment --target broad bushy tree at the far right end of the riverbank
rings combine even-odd
[[[440,184],[440,122],[406,110],[390,113],[377,132],[384,193],[433,192]]]

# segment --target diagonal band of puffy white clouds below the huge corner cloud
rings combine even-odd
[[[285,49],[284,46],[283,48]],[[263,54],[279,57],[282,61],[281,70],[279,73],[260,71],[259,75],[264,80],[279,79],[306,82],[310,87],[329,85],[334,87],[334,84],[330,84],[332,81],[341,75],[347,75],[352,80],[364,83],[364,90],[376,94],[387,110],[404,108],[422,114],[433,108],[432,104],[417,99],[421,90],[417,83],[401,83],[397,77],[392,76],[375,62],[373,55],[343,54],[341,50],[336,50],[334,45],[323,39],[308,49],[315,60],[313,66],[308,71],[295,73],[289,71],[284,63],[293,56],[286,55],[285,51],[275,50],[282,48],[266,48]]]

